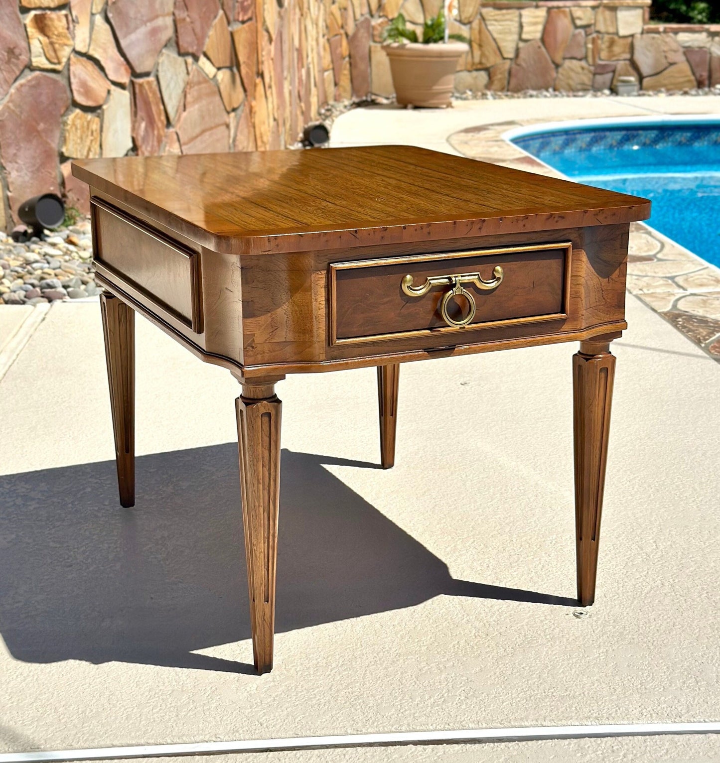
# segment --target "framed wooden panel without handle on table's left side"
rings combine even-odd
[[[199,255],[101,199],[91,199],[98,273],[201,333]]]

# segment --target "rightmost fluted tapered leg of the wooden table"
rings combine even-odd
[[[609,343],[581,342],[573,356],[573,410],[577,598],[583,607],[595,600],[614,378]]]

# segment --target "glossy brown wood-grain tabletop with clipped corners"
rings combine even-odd
[[[628,223],[650,202],[412,146],[81,159],[73,175],[218,252]]]

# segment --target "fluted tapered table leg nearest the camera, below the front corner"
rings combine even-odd
[[[235,403],[253,656],[257,672],[266,673],[273,668],[283,406],[274,384],[244,384]]]

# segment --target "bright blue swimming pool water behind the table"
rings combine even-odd
[[[720,119],[558,124],[512,142],[577,182],[649,198],[649,224],[720,266]]]

